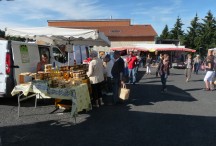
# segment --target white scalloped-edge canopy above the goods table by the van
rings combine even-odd
[[[6,36],[44,41],[50,45],[68,44],[110,46],[109,39],[95,29],[70,29],[58,27],[6,28]]]

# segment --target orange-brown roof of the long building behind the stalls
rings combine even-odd
[[[131,25],[130,19],[48,20],[49,26],[98,29],[108,37],[155,37],[150,25]]]

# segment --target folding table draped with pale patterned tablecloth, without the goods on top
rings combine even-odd
[[[92,109],[88,85],[86,83],[71,86],[70,88],[51,88],[48,85],[49,81],[39,80],[28,83],[19,84],[14,87],[11,94],[18,96],[18,105],[20,106],[21,95],[28,98],[29,93],[35,93],[36,99],[57,98],[72,101],[71,115],[75,116],[78,112]],[[19,108],[19,107],[18,107]],[[19,109],[18,109],[19,115]]]

